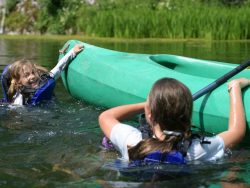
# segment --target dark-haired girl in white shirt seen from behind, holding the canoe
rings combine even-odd
[[[241,89],[250,81],[240,78],[228,84],[230,96],[230,117],[228,130],[212,137],[192,137],[191,117],[193,100],[190,90],[173,78],[158,80],[152,87],[147,101],[118,106],[104,111],[99,124],[122,157],[130,160],[144,159],[152,152],[169,153],[180,150],[180,143],[191,140],[185,160],[217,160],[225,150],[239,143],[245,135],[246,121]],[[153,132],[152,138],[143,139],[141,132],[122,123],[129,117],[145,113]]]

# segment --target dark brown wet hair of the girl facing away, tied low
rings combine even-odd
[[[155,82],[149,96],[151,126],[158,124],[162,131],[180,132],[180,135],[168,135],[163,141],[148,138],[128,150],[129,158],[143,159],[153,151],[162,153],[178,150],[178,143],[191,136],[191,117],[193,99],[190,90],[173,78],[162,78]]]

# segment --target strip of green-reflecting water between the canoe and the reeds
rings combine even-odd
[[[191,58],[214,60],[220,62],[239,64],[250,59],[250,42],[205,42],[205,41],[186,41],[186,42],[96,42],[104,48],[125,51],[131,53],[146,54],[174,54]]]

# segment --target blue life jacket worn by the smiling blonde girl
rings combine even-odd
[[[11,78],[8,73],[9,66],[10,65],[7,65],[4,68],[3,73],[1,75],[1,83],[4,95],[3,102],[11,102],[7,95],[11,83]],[[27,100],[24,100],[24,105],[36,105],[41,101],[51,100],[56,82],[48,75],[43,75],[41,79],[42,81],[39,88],[29,89],[29,97],[27,98]]]

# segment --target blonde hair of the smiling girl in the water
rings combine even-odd
[[[21,87],[21,85],[19,84],[20,76],[21,76],[20,73],[26,67],[33,70],[34,74],[37,77],[41,77],[42,74],[48,73],[48,70],[46,68],[36,65],[27,59],[21,59],[11,64],[8,70],[11,81],[10,81],[10,87],[7,91],[7,96],[10,102],[13,102],[13,96]]]

